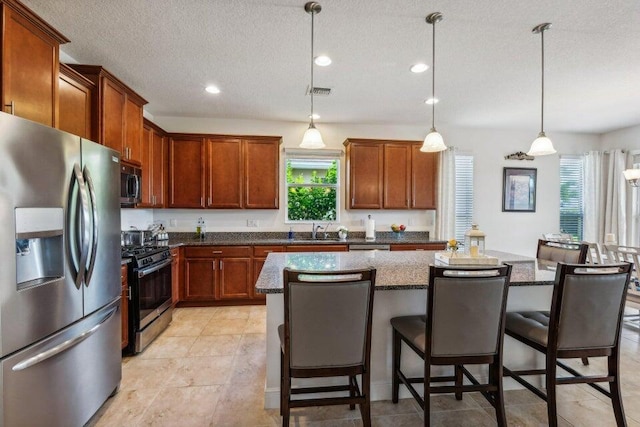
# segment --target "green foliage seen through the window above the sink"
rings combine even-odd
[[[322,169],[320,172],[324,172],[324,176],[313,170],[311,175],[305,178],[302,172],[294,175],[291,162],[287,161],[287,208],[289,220],[335,221],[337,213],[337,163],[334,160],[329,168]],[[328,185],[306,186],[305,184]]]

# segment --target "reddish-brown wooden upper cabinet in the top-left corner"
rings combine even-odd
[[[59,48],[69,40],[22,3],[0,7],[2,111],[57,127]]]

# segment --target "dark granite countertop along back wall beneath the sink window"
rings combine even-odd
[[[319,232],[319,235],[323,235]],[[311,240],[311,233],[299,233],[295,234],[293,240],[287,238],[286,232],[213,232],[207,233],[204,240],[197,239],[193,233],[169,233],[169,240],[166,243],[169,247],[176,247],[182,245],[189,246],[225,246],[225,245],[274,245],[274,246],[289,246],[289,245],[380,245],[380,244],[427,244],[427,243],[446,243],[444,240],[431,240],[428,232],[405,232],[402,235],[397,236],[392,232],[378,232],[376,233],[375,241],[366,241],[364,232],[351,232],[346,240],[338,240],[336,232],[329,232],[328,238]]]

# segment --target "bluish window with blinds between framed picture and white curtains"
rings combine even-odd
[[[560,232],[582,240],[584,167],[581,156],[560,156]]]

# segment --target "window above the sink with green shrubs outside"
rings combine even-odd
[[[338,221],[339,155],[287,153],[287,221]]]

